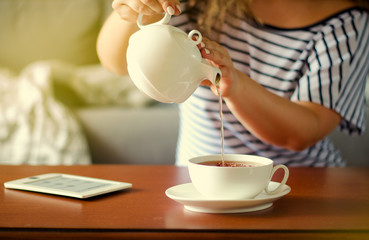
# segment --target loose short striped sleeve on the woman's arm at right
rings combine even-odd
[[[317,32],[291,96],[292,101],[310,101],[335,110],[342,117],[341,131],[350,135],[365,130],[368,22],[368,13],[353,11]]]

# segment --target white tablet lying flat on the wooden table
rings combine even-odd
[[[104,193],[131,188],[131,183],[48,173],[4,183],[6,188],[49,193],[75,198],[89,198]]]

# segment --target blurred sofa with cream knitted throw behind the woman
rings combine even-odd
[[[175,163],[178,106],[99,63],[110,12],[111,0],[0,0],[0,164]],[[368,132],[331,134],[348,165],[369,166]]]

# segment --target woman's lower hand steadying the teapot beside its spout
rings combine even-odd
[[[222,97],[232,94],[236,88],[239,72],[233,67],[233,61],[224,47],[208,38],[203,38],[201,44],[198,45],[201,55],[207,59],[212,65],[219,67],[222,72],[220,80],[220,93]],[[212,91],[217,94],[216,87],[209,81],[205,80],[201,83],[203,86],[210,86]]]

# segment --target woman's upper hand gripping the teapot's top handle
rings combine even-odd
[[[148,16],[181,13],[179,0],[114,0],[114,11],[125,21],[135,22],[139,13]]]

